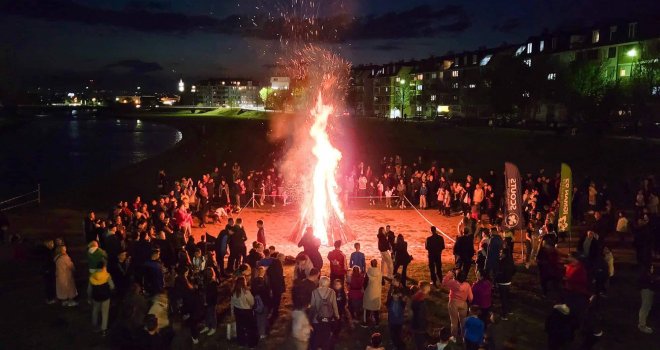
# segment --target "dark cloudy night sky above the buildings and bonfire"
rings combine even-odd
[[[0,89],[173,91],[179,78],[267,77],[315,17],[317,42],[354,64],[516,43],[549,30],[660,13],[658,0],[0,0]],[[285,14],[284,17],[281,14]],[[307,27],[309,29],[309,27]],[[0,90],[0,91],[2,91]]]

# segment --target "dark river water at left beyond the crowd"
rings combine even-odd
[[[180,131],[140,120],[43,117],[0,130],[0,200],[41,184],[44,193],[93,180],[162,153]]]

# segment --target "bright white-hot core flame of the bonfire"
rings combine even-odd
[[[311,191],[307,191],[303,206],[302,221],[311,226],[314,235],[327,245],[331,236],[329,223],[334,217],[344,223],[344,213],[337,197],[337,180],[335,174],[341,160],[341,152],[330,142],[328,136],[328,119],[332,115],[332,105],[323,103],[323,95],[319,91],[315,107],[310,114],[313,117],[309,135],[314,141],[314,171],[312,173]]]

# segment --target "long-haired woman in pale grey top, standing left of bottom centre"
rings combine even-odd
[[[254,348],[259,343],[257,320],[254,317],[254,296],[248,289],[244,276],[236,278],[231,295],[231,313],[236,319],[238,344]]]

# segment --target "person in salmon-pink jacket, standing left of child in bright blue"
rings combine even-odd
[[[442,279],[442,285],[449,289],[449,319],[451,321],[451,334],[458,339],[461,320],[467,317],[467,305],[472,302],[472,288],[465,281],[465,275],[460,270],[453,269]]]

